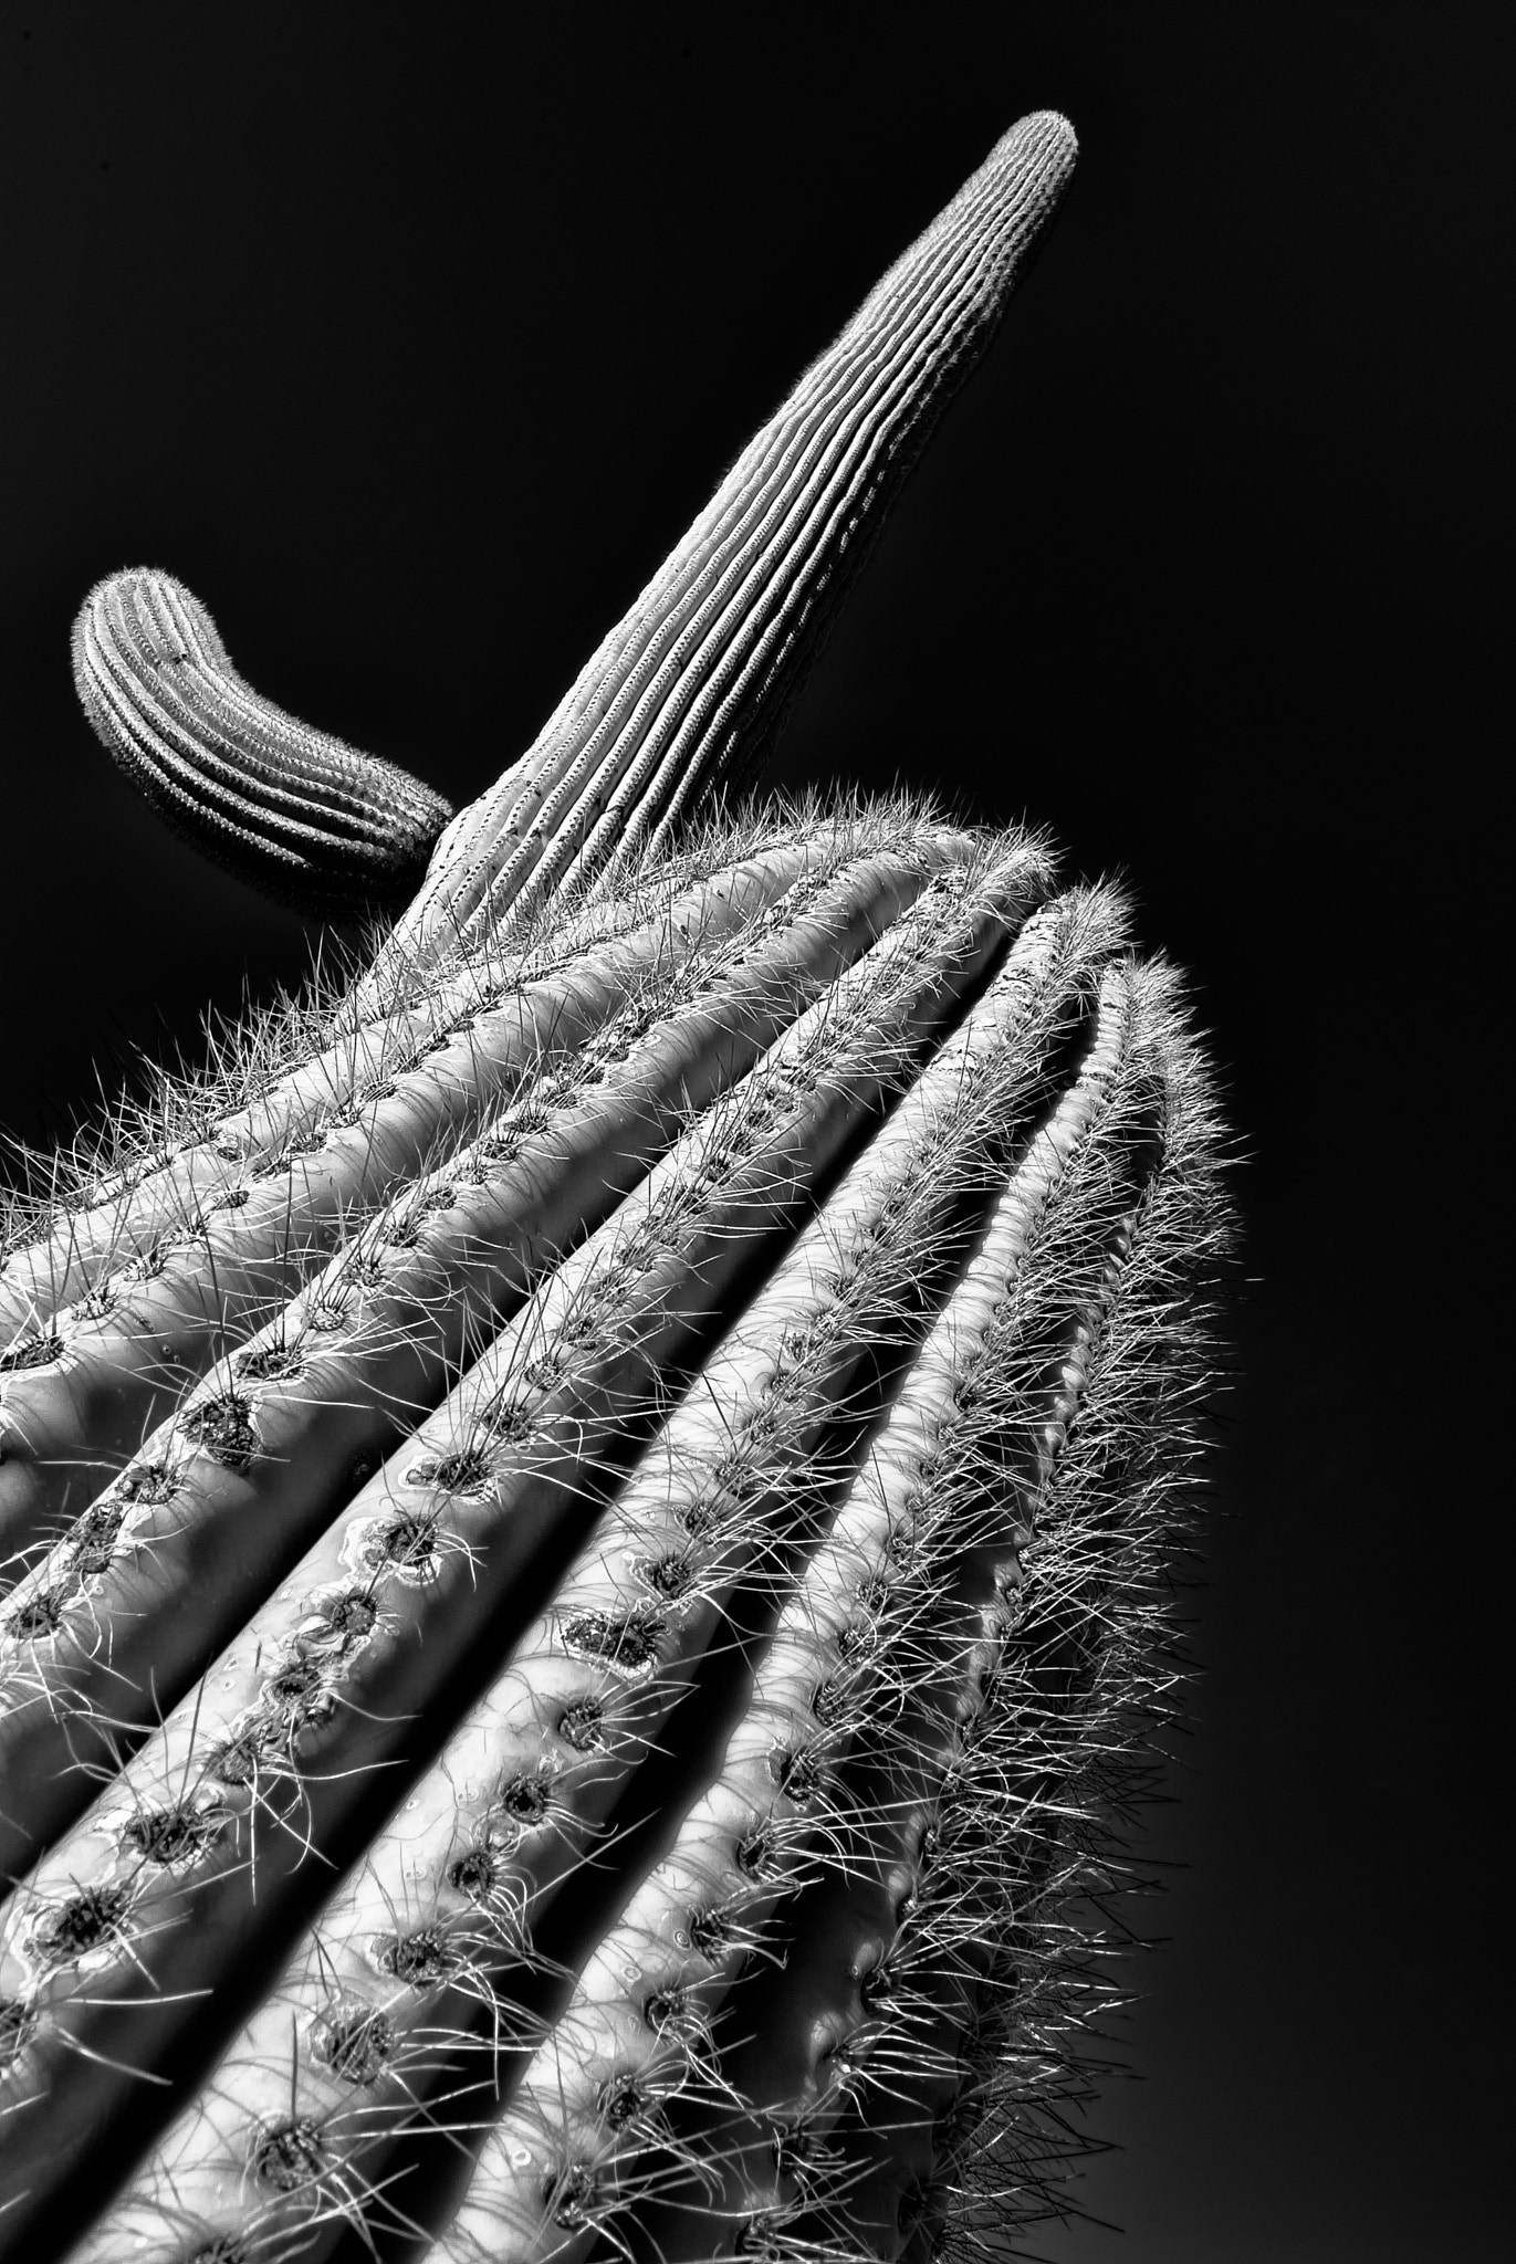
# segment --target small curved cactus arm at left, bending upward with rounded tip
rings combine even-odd
[[[421,881],[451,804],[261,700],[184,582],[107,575],[79,607],[73,661],[104,747],[240,881],[326,917],[401,906]]]

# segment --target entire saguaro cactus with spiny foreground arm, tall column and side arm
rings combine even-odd
[[[1015,127],[499,788],[91,593],[113,752],[426,881],[0,1268],[0,2257],[929,2257],[1047,2207],[1226,1243],[1042,840],[748,777],[1072,163]],[[986,2214],[988,2212],[988,2214]]]

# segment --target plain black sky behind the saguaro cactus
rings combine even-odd
[[[1126,2237],[1049,2230],[1061,2264],[1498,2253],[1507,23],[0,7],[27,1141],[315,935],[91,740],[95,577],[181,575],[252,684],[462,801],[997,134],[1045,104],[1081,134],[773,772],[940,788],[1126,869],[1249,1152],[1206,1678],[1142,1841],[1172,1945],[1079,2189]]]

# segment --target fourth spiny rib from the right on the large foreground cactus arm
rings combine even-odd
[[[109,2069],[179,2049],[254,1911],[290,1929],[320,1879],[310,1850],[340,1861],[374,1773],[419,1759],[417,1716],[467,1700],[571,1558],[650,1401],[961,1014],[1022,890],[1020,851],[936,878],[560,1266],[11,1897],[0,1995],[39,2013],[0,2076],[0,2201],[18,2223],[70,2176],[120,2085]],[[143,1573],[161,1515],[136,1542]],[[143,1861],[138,1820],[199,1798],[220,1820],[190,1834],[193,1859]]]

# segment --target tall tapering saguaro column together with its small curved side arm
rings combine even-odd
[[[741,453],[537,743],[451,822],[408,772],[261,700],[199,600],[152,568],[100,582],[75,623],[91,724],[170,824],[272,894],[349,912],[415,887],[369,1001],[474,951],[523,894],[634,869],[693,799],[752,777],[995,335],[1074,149],[1051,111],[995,145]]]

